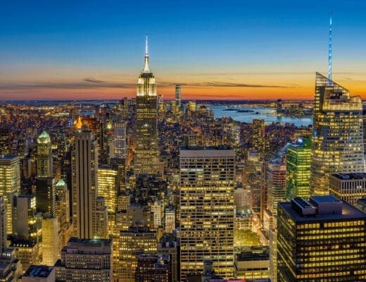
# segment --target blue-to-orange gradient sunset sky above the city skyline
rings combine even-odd
[[[158,94],[313,99],[327,73],[366,98],[366,1],[2,1],[0,99],[136,95],[149,32]]]

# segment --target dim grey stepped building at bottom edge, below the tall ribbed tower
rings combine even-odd
[[[110,282],[112,271],[111,240],[72,237],[55,264],[56,281]]]

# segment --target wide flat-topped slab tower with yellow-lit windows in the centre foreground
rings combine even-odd
[[[201,273],[203,261],[215,262],[218,275],[234,267],[234,149],[180,149],[181,281]]]

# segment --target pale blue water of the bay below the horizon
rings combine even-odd
[[[276,115],[276,109],[270,107],[246,107],[248,112],[225,111],[226,106],[206,105],[208,109],[213,109],[215,118],[228,116],[234,121],[241,123],[252,123],[253,119],[264,119],[265,123],[294,123],[296,126],[308,126],[313,124],[313,118],[291,118],[288,116],[279,117]]]

